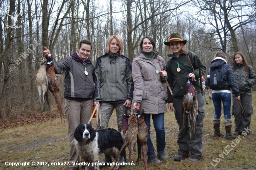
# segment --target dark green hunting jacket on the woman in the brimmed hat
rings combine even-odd
[[[190,60],[192,62],[193,68],[189,62],[189,58],[185,55],[184,52],[181,52],[179,57],[177,57],[175,54],[169,54],[167,64],[166,64],[166,72],[168,75],[168,83],[171,87],[171,90],[173,94],[175,92],[179,91],[182,87],[182,91],[179,92],[178,94],[175,95],[175,98],[183,98],[183,96],[187,93],[186,89],[186,83],[188,82],[188,76],[189,73],[185,72],[184,70],[181,69],[180,72],[177,72],[178,66],[173,62],[171,58],[174,58],[177,62],[179,62],[179,67],[182,65],[185,67],[189,72],[195,75],[195,80],[192,81],[193,86],[195,87],[195,90],[197,91],[197,94],[201,93],[201,87],[198,81],[199,78],[199,64],[198,64],[198,55],[195,54],[194,52],[188,52]],[[203,76],[206,72],[206,67],[202,64],[200,60],[200,66],[201,66],[201,76]],[[181,67],[180,67],[181,68]],[[171,97],[171,93],[168,91],[168,99]],[[172,100],[170,100],[168,103],[172,103]]]

